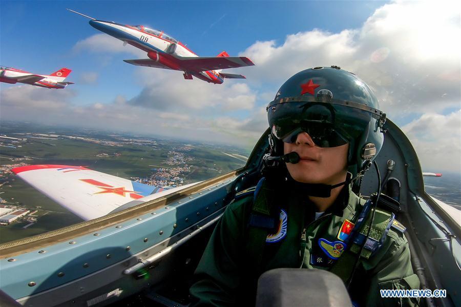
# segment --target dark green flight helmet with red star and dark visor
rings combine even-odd
[[[314,67],[290,77],[267,106],[271,155],[307,132],[319,147],[349,143],[348,166],[366,171],[384,142],[386,114],[358,76],[338,66]]]

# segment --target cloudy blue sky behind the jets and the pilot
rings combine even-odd
[[[225,50],[255,67],[210,85],[181,72],[135,67],[146,58],[70,8],[163,30],[202,56]],[[406,133],[423,167],[461,172],[458,2],[0,1],[0,62],[75,85],[0,84],[0,119],[141,132],[252,148],[265,106],[292,74],[339,65],[359,75]]]

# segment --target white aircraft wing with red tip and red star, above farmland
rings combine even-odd
[[[12,171],[85,220],[104,216],[134,200],[142,203],[143,197],[164,190],[79,166],[29,165]]]

